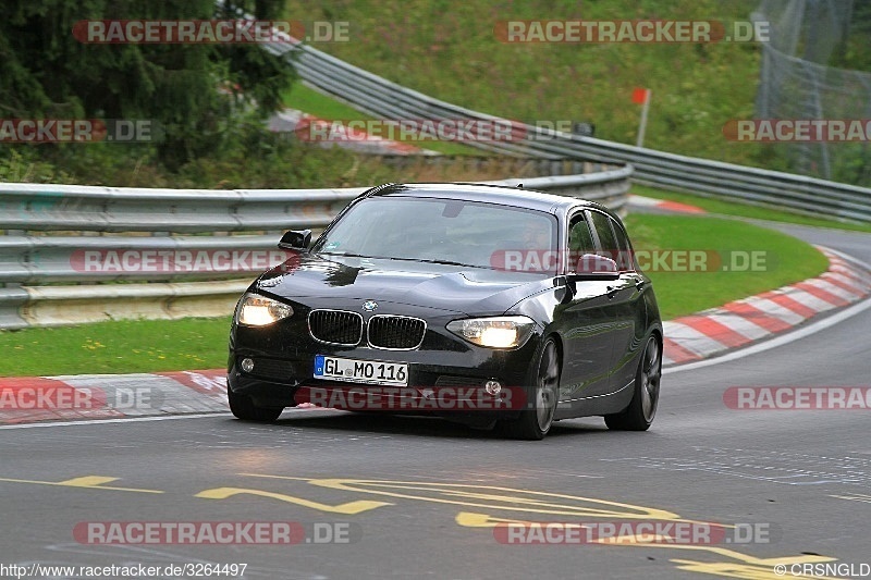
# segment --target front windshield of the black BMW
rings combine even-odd
[[[506,254],[550,252],[556,219],[545,212],[457,199],[370,197],[312,248],[320,254],[496,268]]]

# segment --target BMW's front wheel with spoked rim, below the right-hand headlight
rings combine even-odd
[[[560,395],[560,356],[556,343],[548,338],[529,369],[528,383],[533,385],[531,398],[517,419],[500,421],[506,436],[526,441],[544,439],[553,424]]]

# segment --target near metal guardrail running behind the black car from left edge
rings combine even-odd
[[[523,183],[621,212],[631,173],[627,165],[486,183]],[[0,183],[0,284],[8,286],[0,288],[0,329],[229,314],[255,273],[287,257],[277,249],[278,234],[263,232],[322,227],[364,190]],[[143,280],[149,283],[136,283]],[[70,283],[85,285],[58,285]]]

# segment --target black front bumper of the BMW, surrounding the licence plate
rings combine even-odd
[[[352,410],[516,416],[529,391],[525,382],[540,337],[533,334],[514,350],[479,347],[444,329],[453,318],[456,317],[428,320],[424,342],[413,350],[328,345],[315,341],[306,326],[290,320],[266,328],[234,324],[228,386],[233,393],[250,396],[260,407],[293,407],[310,402]],[[317,355],[405,362],[408,386],[316,379]],[[254,361],[249,372],[241,367],[245,358]],[[502,403],[484,392],[487,381],[503,385],[503,392],[495,397]]]

